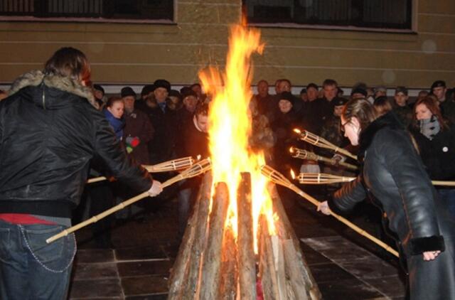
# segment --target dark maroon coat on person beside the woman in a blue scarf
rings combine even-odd
[[[123,143],[127,152],[138,164],[150,164],[149,142],[154,137],[154,127],[149,117],[139,109],[134,109],[131,114],[125,114],[125,122]],[[132,144],[132,139],[137,140],[135,143],[139,141],[139,144]]]

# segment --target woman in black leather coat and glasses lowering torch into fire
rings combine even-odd
[[[366,100],[350,100],[341,124],[359,145],[362,172],[321,203],[326,215],[346,213],[368,194],[386,214],[407,262],[410,299],[454,299],[455,220],[438,199],[410,134],[392,112],[378,117]]]

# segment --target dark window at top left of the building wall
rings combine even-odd
[[[173,20],[172,0],[0,0],[1,16]],[[4,18],[7,19],[7,18]]]

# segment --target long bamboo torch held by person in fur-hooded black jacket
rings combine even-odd
[[[164,183],[161,184],[163,188],[166,188],[167,186],[171,186],[173,183],[176,183],[178,181],[181,181],[186,178],[191,178],[194,176],[198,176],[200,174],[205,173],[205,171],[208,171],[211,168],[210,166],[210,159],[204,159],[203,161],[200,161],[198,164],[195,164],[191,168],[186,169],[182,173],[178,174],[177,176],[174,176],[173,178],[168,179],[168,181],[165,181]],[[102,218],[107,217],[107,215],[111,215],[112,213],[115,213],[118,210],[122,210],[123,208],[126,208],[128,205],[132,205],[133,203],[142,200],[146,197],[149,196],[149,192],[144,192],[141,193],[133,198],[130,198],[129,200],[125,200],[122,203],[119,203],[118,205],[115,205],[112,208],[109,208],[108,210],[105,210],[104,212],[93,216],[92,218],[85,220],[82,223],[79,223],[77,225],[74,225],[73,227],[69,227],[68,229],[63,230],[62,232],[58,233],[57,235],[53,235],[52,237],[49,237],[45,242],[48,244],[50,242],[53,242],[55,240],[58,240],[60,237],[65,237],[69,235],[71,232],[75,232],[76,230],[79,230],[82,227],[85,227],[89,224],[96,223],[97,221],[101,220]]]

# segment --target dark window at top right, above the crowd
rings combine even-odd
[[[412,29],[412,0],[243,0],[248,23]]]

